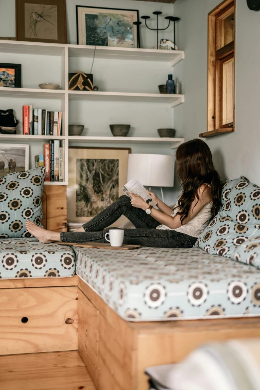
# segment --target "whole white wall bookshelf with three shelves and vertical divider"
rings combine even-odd
[[[110,102],[126,102],[131,103],[143,103],[143,104],[159,104],[159,107],[165,107],[164,110],[171,110],[171,108],[184,103],[184,95],[166,95],[159,93],[140,93],[140,92],[89,92],[89,91],[69,91],[68,89],[68,73],[70,69],[70,61],[79,58],[80,61],[91,61],[95,51],[94,46],[82,46],[82,45],[71,45],[71,44],[49,44],[49,43],[38,43],[38,42],[20,42],[20,41],[9,41],[0,40],[0,57],[2,62],[20,63],[19,56],[23,58],[29,56],[25,61],[25,65],[28,61],[35,61],[35,63],[43,63],[47,66],[42,65],[42,71],[46,77],[46,69],[49,71],[56,72],[58,78],[60,78],[61,89],[58,90],[42,90],[40,88],[3,88],[0,87],[0,105],[1,102],[10,102],[7,108],[12,108],[12,102],[16,102],[16,107],[22,107],[23,105],[32,104],[35,107],[46,108],[48,111],[62,111],[63,123],[62,123],[62,135],[60,136],[49,136],[49,135],[8,135],[0,134],[0,141],[14,141],[14,142],[26,142],[28,141],[30,146],[30,153],[38,154],[39,148],[42,147],[44,142],[48,142],[51,139],[65,139],[65,182],[47,182],[47,185],[67,185],[68,184],[68,148],[69,144],[80,143],[83,145],[91,144],[150,144],[150,145],[165,145],[169,148],[176,148],[182,142],[183,138],[160,138],[159,136],[143,137],[143,136],[128,136],[128,137],[114,137],[114,136],[69,136],[69,110],[70,105],[81,104],[93,104],[93,102],[103,102],[103,104],[110,104]],[[34,56],[34,57],[32,57]],[[40,58],[39,56],[44,56]],[[50,56],[50,57],[49,57]],[[51,64],[50,58],[58,58]],[[5,59],[7,58],[7,60]],[[8,60],[12,58],[15,60]],[[26,57],[27,58],[27,57]],[[130,48],[117,48],[117,47],[102,47],[97,46],[95,51],[95,58],[106,59],[106,64],[109,66],[109,60],[112,60],[115,66],[115,60],[118,64],[120,60],[135,60],[135,61],[155,61],[156,63],[165,63],[168,73],[171,73],[171,67],[177,62],[184,58],[183,51],[164,51],[164,50],[153,50],[153,49],[130,49]],[[57,62],[58,61],[58,62]],[[57,67],[57,63],[60,66]],[[81,63],[81,62],[79,62]],[[141,62],[140,62],[141,63]],[[56,64],[56,65],[55,65]],[[55,68],[56,66],[56,68]],[[136,66],[136,65],[135,65]],[[149,65],[148,65],[149,66]],[[151,66],[155,67],[154,64]],[[39,67],[39,65],[38,65]],[[46,69],[45,69],[46,68]],[[75,68],[75,66],[74,66]],[[34,73],[34,67],[31,65],[31,73]],[[37,69],[35,67],[35,69]],[[48,70],[47,69],[47,70]],[[53,70],[54,69],[54,70]],[[153,69],[156,69],[153,68]],[[78,69],[77,69],[78,70]],[[22,71],[26,72],[26,66],[22,65]],[[35,70],[36,71],[36,70]],[[28,80],[28,75],[27,80]],[[30,75],[29,75],[30,76]],[[33,74],[32,74],[33,76]],[[49,80],[46,80],[46,82]],[[44,81],[41,81],[44,82]],[[27,84],[29,84],[27,82]],[[95,83],[94,83],[95,85]],[[129,83],[131,87],[131,82]],[[26,87],[29,85],[26,85]],[[74,102],[74,103],[73,103]],[[91,103],[92,102],[92,103]],[[98,104],[98,103],[97,103]],[[54,106],[53,106],[54,105]],[[55,106],[56,105],[56,106]],[[56,107],[53,109],[53,107]],[[77,106],[77,109],[80,106]],[[117,106],[116,106],[117,107]],[[146,106],[147,107],[147,106]],[[150,107],[150,106],[149,106]],[[152,106],[153,107],[153,106]],[[0,106],[1,108],[1,106]],[[4,108],[3,108],[4,109]],[[6,109],[6,107],[5,107]],[[72,108],[71,108],[72,109]],[[91,109],[90,109],[91,110]],[[157,112],[158,106],[156,106],[154,112]],[[165,111],[164,111],[165,112]],[[158,111],[159,115],[159,111]],[[138,119],[138,118],[137,118]],[[19,118],[21,121],[21,118]],[[112,122],[113,123],[113,122]],[[114,122],[117,123],[117,122]],[[118,122],[119,123],[119,122]],[[19,132],[21,132],[21,127]],[[89,132],[89,131],[88,131]],[[108,127],[108,134],[110,133]],[[38,149],[37,149],[38,147]]]

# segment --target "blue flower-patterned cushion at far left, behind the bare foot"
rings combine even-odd
[[[45,167],[10,173],[0,178],[0,238],[31,237],[29,218],[41,225],[41,195]]]

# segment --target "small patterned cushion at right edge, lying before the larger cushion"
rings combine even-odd
[[[260,268],[260,236],[254,236],[237,247],[232,259]]]

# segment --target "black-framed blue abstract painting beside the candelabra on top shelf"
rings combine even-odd
[[[76,5],[77,43],[112,47],[137,47],[137,9]]]

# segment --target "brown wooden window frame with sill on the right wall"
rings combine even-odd
[[[221,22],[232,12],[234,12],[234,41],[221,47]],[[209,137],[235,131],[235,12],[236,0],[224,0],[208,14],[207,131],[201,133],[200,137]],[[222,125],[223,63],[232,58],[234,58],[233,122]]]

